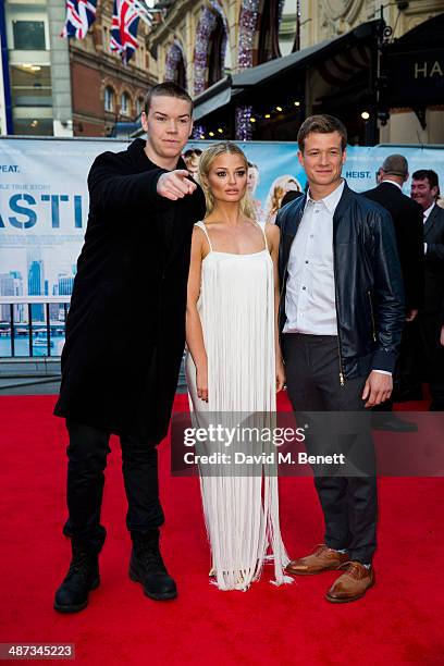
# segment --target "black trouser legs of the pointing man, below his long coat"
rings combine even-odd
[[[106,530],[100,525],[110,433],[66,420],[67,453],[66,531],[100,551]],[[121,436],[122,471],[128,509],[126,527],[146,532],[160,527],[163,511],[159,501],[158,452],[156,444],[132,435]]]

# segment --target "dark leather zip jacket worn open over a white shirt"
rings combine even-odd
[[[284,328],[289,250],[307,197],[284,206],[279,273],[280,331]],[[333,215],[340,380],[362,377],[371,369],[393,372],[405,320],[404,286],[390,213],[345,184]]]

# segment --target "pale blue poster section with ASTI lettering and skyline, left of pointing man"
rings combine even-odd
[[[88,214],[87,174],[108,149],[100,140],[2,139],[0,143],[0,296],[70,296]],[[114,141],[113,150],[126,144]],[[51,306],[51,314],[58,308]],[[44,306],[32,316],[44,321]],[[0,321],[10,309],[0,307]],[[16,323],[26,307],[14,306]]]

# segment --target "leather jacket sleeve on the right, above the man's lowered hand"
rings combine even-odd
[[[393,372],[405,322],[404,285],[392,217],[383,209],[372,214],[378,322],[372,368]]]

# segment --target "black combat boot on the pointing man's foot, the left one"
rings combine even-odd
[[[89,591],[96,590],[100,583],[98,553],[76,539],[71,540],[71,547],[70,569],[55,592],[54,608],[59,613],[77,613],[86,608]]]

